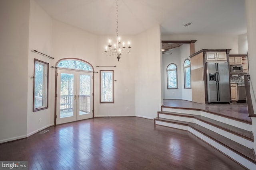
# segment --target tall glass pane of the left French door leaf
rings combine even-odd
[[[74,74],[60,74],[60,118],[71,117],[74,100]]]

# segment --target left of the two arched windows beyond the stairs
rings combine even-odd
[[[167,89],[178,89],[177,66],[173,63],[167,66]]]

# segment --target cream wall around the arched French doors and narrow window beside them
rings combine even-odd
[[[124,36],[122,40],[132,43],[134,36]],[[94,35],[80,28],[60,21],[53,22],[53,56],[54,65],[62,58],[83,59],[92,64],[94,71],[94,116],[135,115],[135,69],[134,47],[128,54],[122,54],[120,61],[115,56],[107,57],[104,53],[108,39],[115,36]],[[97,67],[114,66],[116,67]],[[100,70],[114,70],[114,103],[100,104]],[[52,75],[54,77],[54,75]],[[54,84],[52,84],[54,92]],[[52,118],[54,120],[54,118]]]

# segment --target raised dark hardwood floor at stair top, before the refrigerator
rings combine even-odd
[[[172,100],[164,99],[164,106],[177,107],[177,108],[189,108],[189,109],[201,109],[210,113],[216,113],[224,115],[229,118],[234,118],[238,121],[244,121],[246,123],[252,123],[252,119],[248,117],[246,103],[231,103],[231,104],[200,104],[196,102],[190,102],[187,100]]]

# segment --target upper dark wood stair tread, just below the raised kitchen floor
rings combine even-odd
[[[166,115],[175,115],[175,116],[181,116],[181,117],[190,117],[190,118],[194,118],[197,120],[200,120],[204,123],[207,123],[209,125],[218,127],[224,131],[228,131],[234,135],[238,135],[244,139],[247,139],[249,141],[254,141],[254,137],[251,131],[246,131],[244,129],[240,129],[238,127],[234,127],[232,125],[228,125],[226,123],[222,123],[220,121],[216,121],[214,119],[210,119],[208,117],[204,117],[201,115],[192,115],[192,114],[186,114],[186,113],[174,113],[174,112],[169,112],[169,111],[158,111],[158,115],[159,114],[166,114]]]

